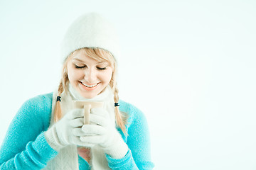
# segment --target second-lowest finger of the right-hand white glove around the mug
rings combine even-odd
[[[84,132],[84,136],[106,134],[106,129],[100,125],[83,125],[82,131]]]

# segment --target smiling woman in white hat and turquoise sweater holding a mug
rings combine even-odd
[[[96,13],[80,16],[62,44],[58,90],[23,104],[0,150],[1,169],[152,169],[141,111],[119,101],[117,36]],[[73,101],[103,101],[90,124]]]

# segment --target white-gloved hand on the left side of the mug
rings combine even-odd
[[[67,145],[83,145],[83,109],[73,109],[66,113],[57,123],[45,132],[46,141],[53,149],[59,151]],[[92,147],[89,145],[88,147]]]

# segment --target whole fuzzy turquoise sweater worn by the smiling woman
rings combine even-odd
[[[26,101],[12,120],[0,149],[0,169],[43,169],[58,152],[48,145],[44,132],[50,125],[53,93]],[[127,136],[119,130],[129,151],[122,159],[106,155],[111,169],[153,169],[150,157],[149,130],[139,109],[119,101],[119,110],[129,115]],[[79,157],[79,169],[90,169]]]

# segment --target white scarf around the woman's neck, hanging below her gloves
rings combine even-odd
[[[54,124],[53,112],[56,104],[56,98],[58,96],[58,91],[53,92],[53,103],[52,103],[52,116],[50,120],[49,128]],[[95,98],[83,98],[80,96],[78,91],[76,91],[73,86],[68,84],[68,91],[64,91],[61,95],[60,106],[63,115],[68,113],[73,109],[73,100],[78,101],[103,101],[103,108],[107,110],[109,116],[112,120],[112,125],[115,127],[115,116],[114,116],[114,94],[110,86],[107,86],[101,94],[95,96]],[[107,164],[107,159],[103,150],[95,145],[91,148],[91,169],[103,170],[110,169]],[[78,147],[76,145],[68,145],[63,149],[60,149],[58,155],[48,162],[46,168],[47,170],[79,170],[78,165]]]

